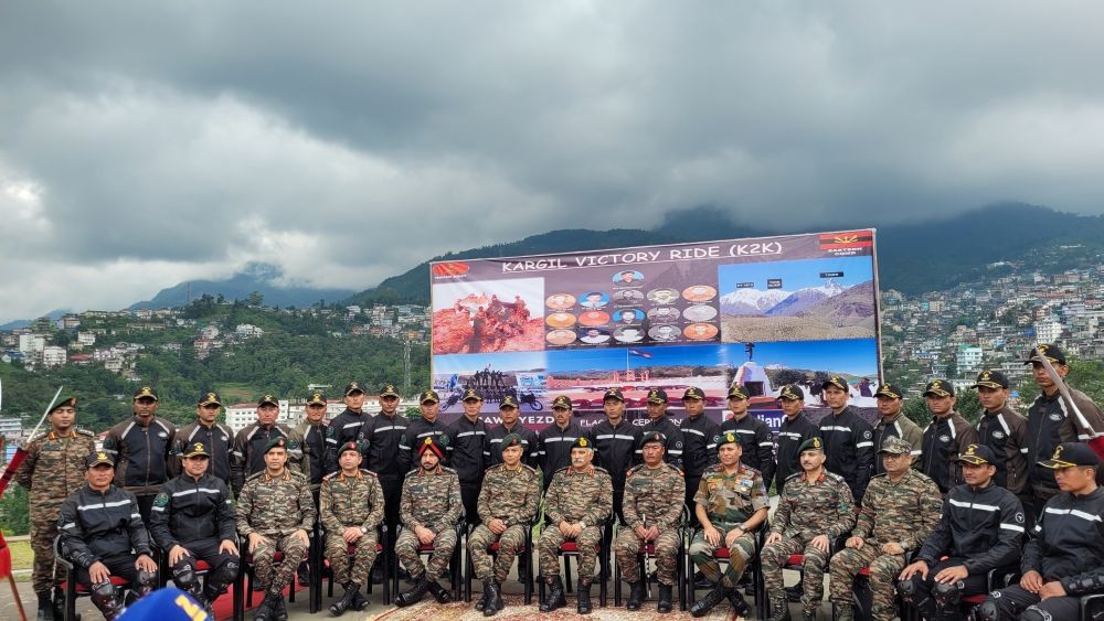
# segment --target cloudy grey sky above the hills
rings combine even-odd
[[[8,2],[0,322],[701,204],[1104,211],[1101,3]]]

